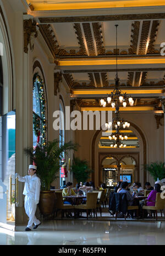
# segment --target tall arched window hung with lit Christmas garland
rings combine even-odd
[[[46,145],[46,100],[45,85],[40,75],[36,73],[33,79],[33,145]]]

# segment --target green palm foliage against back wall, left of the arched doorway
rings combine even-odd
[[[73,165],[71,171],[77,182],[85,182],[90,177],[92,170],[86,160],[80,160],[78,157],[73,157]]]

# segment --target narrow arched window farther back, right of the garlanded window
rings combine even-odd
[[[65,130],[64,130],[64,125],[65,125],[65,112],[64,112],[64,104],[63,101],[60,100],[59,102],[59,146],[65,143]],[[63,158],[65,158],[65,154],[63,153]],[[61,177],[61,168],[60,168],[60,177]],[[60,178],[60,186],[63,186],[63,178]]]

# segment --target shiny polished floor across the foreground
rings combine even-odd
[[[0,228],[0,244],[106,245],[165,244],[165,222],[150,221],[44,221],[29,232]]]

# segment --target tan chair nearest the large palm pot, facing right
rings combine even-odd
[[[68,210],[74,210],[74,205],[72,204],[64,204],[63,203],[63,197],[62,192],[55,192],[56,194],[56,217],[57,217],[57,211],[61,210],[61,218],[63,218],[63,213],[67,212]]]

